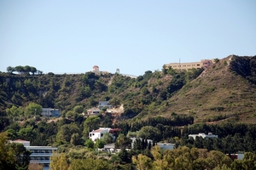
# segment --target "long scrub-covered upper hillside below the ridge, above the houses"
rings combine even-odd
[[[256,57],[216,59],[209,69],[145,71],[137,78],[119,74],[14,75],[0,74],[0,115],[12,105],[30,102],[61,109],[63,116],[82,105],[84,111],[110,100],[123,104],[113,120],[149,116],[194,116],[195,122],[256,122]],[[104,117],[103,117],[104,119]]]

